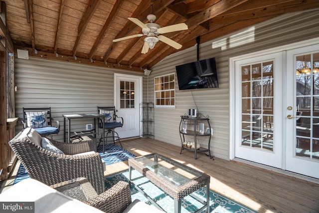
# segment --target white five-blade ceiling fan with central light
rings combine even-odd
[[[175,49],[180,49],[182,47],[181,44],[160,34],[188,29],[185,23],[177,23],[177,24],[173,24],[169,26],[160,27],[159,24],[154,23],[156,19],[156,16],[154,14],[149,14],[147,18],[150,21],[150,23],[146,23],[146,24],[137,18],[132,18],[132,17],[128,18],[129,20],[133,21],[134,23],[136,23],[138,26],[142,28],[143,34],[136,34],[136,35],[126,36],[123,38],[117,38],[117,39],[114,39],[113,42],[147,35],[147,37],[144,39],[144,45],[142,48],[142,53],[144,54],[149,51],[149,48],[153,49],[155,44],[159,40],[174,47]]]

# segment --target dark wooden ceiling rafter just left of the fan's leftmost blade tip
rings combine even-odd
[[[105,24],[101,30],[101,32],[99,33],[97,39],[95,40],[92,48],[91,48],[91,51],[90,51],[90,54],[89,54],[89,59],[92,59],[95,51],[97,50],[98,46],[100,45],[100,43],[102,42],[105,34],[107,33],[107,31],[109,30],[110,26],[111,26],[111,22],[113,21],[113,19],[115,18],[116,14],[118,13],[119,11],[119,8],[121,7],[123,3],[123,0],[117,0],[108,16],[108,18],[106,19],[105,21]]]

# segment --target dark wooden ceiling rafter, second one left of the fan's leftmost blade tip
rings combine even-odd
[[[80,40],[83,36],[85,27],[89,23],[90,19],[92,18],[95,10],[98,8],[101,1],[102,0],[91,0],[89,2],[88,7],[86,8],[86,11],[85,11],[85,13],[80,21],[79,26],[78,26],[78,35],[76,37],[76,41],[74,43],[73,51],[72,51],[73,57],[75,56],[77,48],[79,47]]]

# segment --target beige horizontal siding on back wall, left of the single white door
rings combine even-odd
[[[52,117],[61,126],[53,139],[63,141],[63,114],[96,113],[97,106],[114,106],[115,72],[135,74],[34,57],[15,58],[15,114],[22,118],[22,107],[51,107]],[[93,120],[72,120],[71,130],[85,130],[89,123]],[[21,129],[22,125],[17,127],[17,131]]]

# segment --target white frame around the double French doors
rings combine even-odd
[[[286,50],[295,49],[303,46],[309,46],[317,44],[319,42],[319,37],[312,38],[304,41],[299,41],[291,44],[286,44],[278,47],[273,47],[265,50],[260,50],[257,52],[251,52],[243,55],[238,55],[229,58],[229,160],[235,160],[235,130],[236,130],[236,121],[235,121],[235,62],[238,60],[244,60],[251,57],[257,57],[267,54],[272,54],[276,52],[283,52],[283,55],[286,56]],[[286,75],[286,57],[283,57],[283,78],[287,77]],[[285,85],[283,85],[285,86]],[[284,93],[285,94],[285,93]],[[284,106],[286,102],[284,101]],[[283,109],[283,116],[286,115],[285,109]],[[283,128],[286,130],[285,122],[283,123]],[[283,137],[286,136],[286,132],[283,132]],[[283,138],[284,139],[284,138]],[[283,143],[283,151],[286,150],[286,143]],[[283,155],[283,158],[286,158]],[[256,163],[254,163],[256,164]],[[283,162],[283,169],[286,169],[285,162]]]

